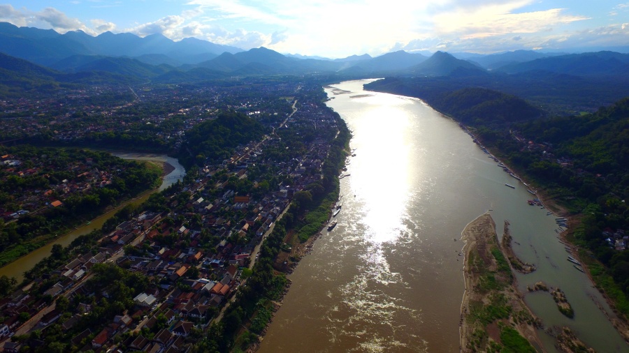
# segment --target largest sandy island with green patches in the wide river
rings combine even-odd
[[[489,213],[470,222],[461,240],[465,242],[461,351],[518,347],[518,352],[535,352],[534,347],[542,347],[537,337],[540,321],[518,291]]]

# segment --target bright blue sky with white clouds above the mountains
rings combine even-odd
[[[629,46],[629,2],[608,0],[24,0],[0,4],[17,26],[196,37],[248,50],[347,57]]]

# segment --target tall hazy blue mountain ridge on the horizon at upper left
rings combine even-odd
[[[141,38],[132,33],[115,34],[109,31],[93,37],[82,31],[59,34],[52,29],[16,27],[0,22],[0,52],[42,65],[50,65],[77,54],[108,57],[164,54],[181,63],[198,63],[222,52],[242,51],[236,47],[217,45],[196,38],[175,42],[161,34]]]

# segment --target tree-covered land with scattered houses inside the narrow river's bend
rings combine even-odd
[[[0,264],[48,243],[110,206],[157,186],[161,170],[109,153],[0,147]],[[62,202],[54,206],[55,201]],[[20,212],[27,213],[10,216]]]

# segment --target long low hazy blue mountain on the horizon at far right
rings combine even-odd
[[[503,66],[505,73],[549,71],[576,76],[628,76],[629,54],[593,52],[567,54]]]

